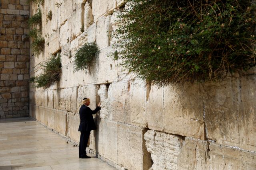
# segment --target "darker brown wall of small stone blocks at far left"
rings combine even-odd
[[[0,0],[0,117],[28,116],[30,68],[26,0]]]

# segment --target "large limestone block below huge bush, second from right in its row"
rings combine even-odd
[[[204,110],[200,84],[164,87],[165,131],[204,140]]]

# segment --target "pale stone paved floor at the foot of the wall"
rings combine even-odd
[[[30,118],[0,119],[0,170],[114,170]]]

